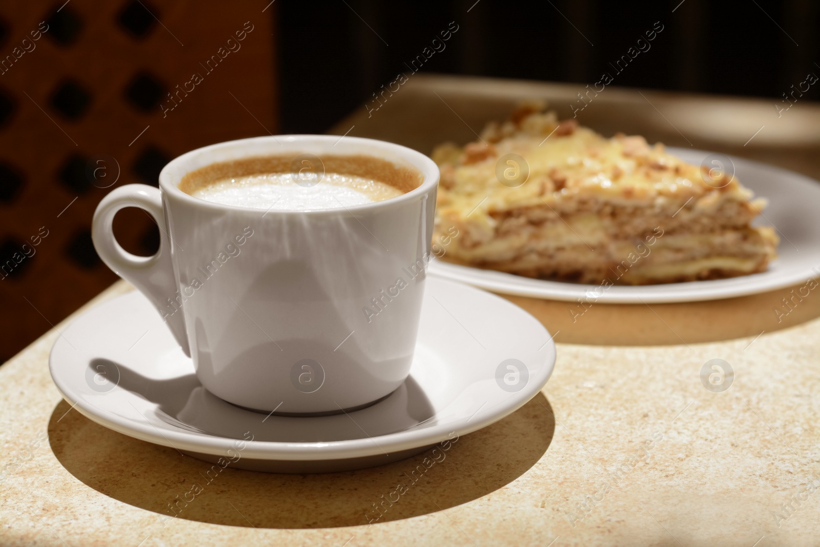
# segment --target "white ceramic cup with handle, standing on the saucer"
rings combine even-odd
[[[421,185],[355,207],[264,211],[185,194],[182,177],[245,157],[365,155],[407,166]],[[398,144],[328,135],[236,140],[177,157],[159,189],[125,185],[94,213],[94,247],[166,319],[203,386],[246,408],[338,413],[373,403],[408,376],[416,344],[439,170]],[[112,232],[124,207],[160,228],[153,257]],[[370,310],[368,312],[368,310]]]

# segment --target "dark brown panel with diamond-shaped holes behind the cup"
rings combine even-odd
[[[192,148],[276,132],[267,3],[0,5],[0,362],[116,280],[89,232],[108,191],[157,185]],[[115,228],[125,248],[156,248],[143,212]]]

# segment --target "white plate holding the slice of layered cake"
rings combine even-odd
[[[710,154],[703,150],[669,148],[669,152],[686,162],[701,164]],[[726,156],[724,156],[726,157]],[[481,270],[449,264],[440,260],[430,263],[430,274],[461,281],[502,294],[517,294],[538,299],[594,299],[602,303],[693,302],[727,299],[746,294],[782,289],[820,276],[820,182],[764,163],[729,156],[740,183],[755,195],[768,198],[763,217],[755,224],[777,229],[780,245],[777,260],[768,271],[730,279],[689,281],[665,285],[610,286],[581,285],[515,276],[501,271]]]

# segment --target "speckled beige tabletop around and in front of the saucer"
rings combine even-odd
[[[88,307],[127,290],[113,285]],[[48,374],[63,322],[0,367],[0,545],[816,545],[817,299],[795,309],[792,326],[731,340],[559,343],[535,399],[462,436],[371,524],[372,504],[425,454],[324,475],[229,467],[171,517],[168,504],[209,464],[72,410]],[[719,308],[758,326],[754,313],[738,313],[748,300],[709,306],[629,312],[645,332],[698,309],[704,321]],[[535,311],[548,327],[566,313]],[[602,328],[595,311],[590,338]],[[711,338],[721,324],[717,317]],[[734,369],[727,390],[701,381],[714,358]]]

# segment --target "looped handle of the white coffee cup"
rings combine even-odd
[[[127,252],[117,243],[112,223],[116,212],[125,207],[139,207],[148,212],[157,222],[160,244],[153,257],[138,257]],[[148,185],[125,185],[112,190],[97,206],[91,226],[94,248],[107,267],[116,275],[129,281],[153,303],[165,319],[176,341],[188,357],[191,356],[188,336],[185,333],[185,319],[182,312],[168,313],[174,302],[177,287],[174,267],[171,263],[171,244],[162,209],[160,190]]]

